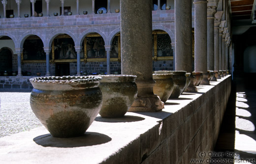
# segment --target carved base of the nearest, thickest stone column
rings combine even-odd
[[[160,111],[164,103],[154,94],[155,81],[136,81],[138,94],[128,111]]]

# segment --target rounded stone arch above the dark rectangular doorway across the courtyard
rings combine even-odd
[[[69,35],[73,39],[73,41],[75,43],[75,46],[76,46],[76,42],[77,42],[76,36],[72,32],[70,32],[68,30],[65,30],[65,29],[53,31],[50,35],[48,35],[48,38],[46,40],[46,44],[44,44],[44,46],[45,47],[52,47],[53,39],[56,36],[60,35],[60,34],[67,34],[67,35]]]

